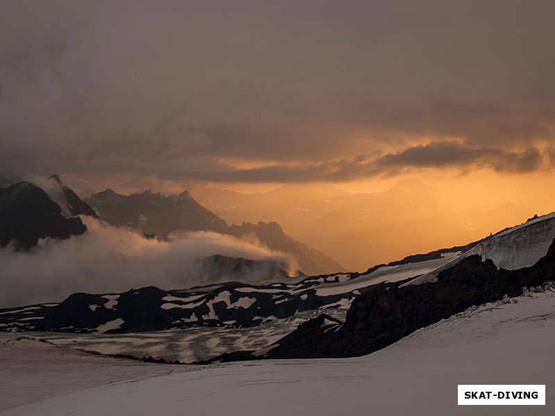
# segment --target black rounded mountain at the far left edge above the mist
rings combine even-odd
[[[68,239],[87,227],[79,218],[65,218],[56,202],[30,182],[0,189],[0,246],[12,243],[29,250],[40,239]]]

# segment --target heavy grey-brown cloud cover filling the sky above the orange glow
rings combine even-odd
[[[552,1],[4,1],[0,175],[530,171],[554,141],[553,21]]]

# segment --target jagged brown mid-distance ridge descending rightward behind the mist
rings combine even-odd
[[[106,189],[94,193],[87,202],[99,212],[103,220],[117,227],[133,227],[144,234],[156,234],[163,239],[173,232],[212,231],[252,240],[271,250],[293,254],[298,269],[307,275],[343,270],[339,263],[323,252],[285,234],[278,223],[228,226],[223,219],[196,202],[187,191],[170,196],[150,191],[123,196]]]

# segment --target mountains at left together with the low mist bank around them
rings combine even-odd
[[[107,190],[91,198],[99,216],[58,175],[36,182],[42,187],[17,182],[0,189],[2,306],[80,291],[287,280],[302,268],[341,268],[276,223],[230,227],[187,192]]]

